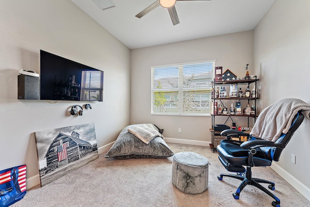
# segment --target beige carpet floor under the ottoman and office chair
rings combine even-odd
[[[171,183],[172,157],[167,159],[99,158],[44,187],[36,186],[13,207],[272,207],[273,199],[263,191],[246,186],[235,200],[232,193],[239,180],[224,177],[229,173],[210,147],[168,143],[174,153],[196,152],[209,165],[208,189],[192,195],[179,191]],[[273,193],[281,207],[306,207],[310,201],[296,191],[270,167],[256,167],[253,177],[276,183]],[[265,188],[267,184],[262,184]]]

